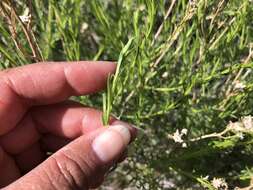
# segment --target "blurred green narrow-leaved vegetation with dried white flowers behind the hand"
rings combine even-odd
[[[250,189],[251,0],[1,0],[0,15],[1,69],[120,63],[104,99],[76,98],[141,128],[102,189]]]

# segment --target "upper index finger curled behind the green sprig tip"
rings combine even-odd
[[[13,129],[33,105],[57,103],[101,90],[115,67],[111,62],[51,62],[1,72],[0,136]]]

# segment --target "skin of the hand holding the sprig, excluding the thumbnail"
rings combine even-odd
[[[101,111],[68,99],[102,90],[115,68],[110,62],[51,62],[0,72],[0,188],[70,190],[102,183],[127,147],[102,162],[91,147],[106,130]],[[136,131],[129,130],[133,140]]]

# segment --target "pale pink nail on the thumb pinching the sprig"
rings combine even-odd
[[[92,148],[101,161],[110,162],[125,150],[130,139],[127,127],[113,125],[94,139]]]

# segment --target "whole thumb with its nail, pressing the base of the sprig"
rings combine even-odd
[[[6,188],[71,190],[95,188],[134,136],[133,128],[117,122],[74,140],[40,166]]]

